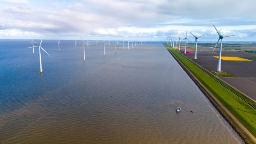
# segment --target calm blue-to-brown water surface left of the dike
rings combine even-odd
[[[29,43],[0,40],[0,143],[244,143],[160,43],[43,40],[43,74]]]

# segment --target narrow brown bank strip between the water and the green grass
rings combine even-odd
[[[237,132],[238,135],[244,140],[246,144],[256,143],[256,139],[251,133],[233,116],[233,114],[224,107],[219,100],[210,92],[208,89],[174,56],[174,54],[165,46],[172,57],[179,63],[182,69],[189,75],[189,77],[194,81],[194,83],[200,88],[202,93],[210,100],[212,105],[219,111],[223,118],[228,121],[231,127]]]

